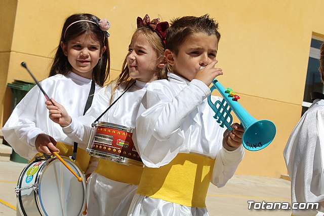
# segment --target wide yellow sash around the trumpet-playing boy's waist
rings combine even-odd
[[[136,193],[191,207],[206,207],[205,200],[215,160],[178,154],[159,168],[144,167]]]

